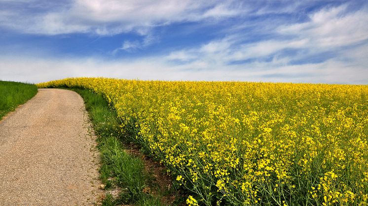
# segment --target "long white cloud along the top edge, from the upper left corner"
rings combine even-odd
[[[31,3],[21,5],[27,7]],[[112,35],[130,31],[146,34],[155,26],[219,19],[242,12],[232,6],[232,0],[74,0],[59,9],[50,6],[49,11],[36,13],[14,8],[1,10],[0,26],[46,35],[74,32]]]

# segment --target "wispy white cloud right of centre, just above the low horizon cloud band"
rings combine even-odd
[[[197,48],[184,49],[170,53],[165,59],[180,62],[204,61],[212,67],[226,66],[234,61],[266,58],[284,49],[301,49],[308,47],[307,39],[300,40],[267,40],[255,43],[240,43],[241,38],[233,35],[214,40]],[[295,54],[296,55],[296,54]],[[287,60],[287,61],[286,61]],[[286,64],[290,58],[273,59],[274,64]]]

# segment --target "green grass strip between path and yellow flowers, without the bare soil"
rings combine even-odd
[[[155,194],[147,192],[151,191],[147,188],[157,188],[154,177],[146,172],[141,158],[130,155],[124,150],[122,138],[126,134],[121,133],[116,112],[111,109],[104,97],[86,89],[68,89],[79,93],[84,99],[86,110],[98,137],[98,149],[102,160],[100,178],[107,190],[102,205],[165,205],[162,203],[164,191],[156,190]],[[111,190],[120,190],[119,195],[113,197],[109,192]]]

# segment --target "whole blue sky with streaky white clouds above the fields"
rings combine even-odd
[[[368,84],[367,0],[0,0],[0,80]]]

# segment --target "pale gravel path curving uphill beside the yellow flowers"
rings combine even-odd
[[[0,205],[94,205],[99,154],[83,99],[38,89],[0,121]]]

